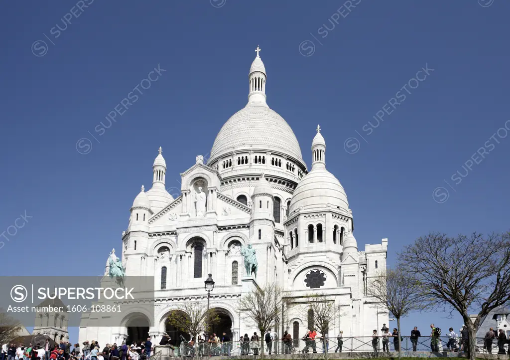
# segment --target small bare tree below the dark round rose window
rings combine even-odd
[[[313,323],[314,329],[319,330],[327,359],[327,337],[329,324],[335,320],[335,301],[323,293],[308,294],[305,301],[302,316]]]

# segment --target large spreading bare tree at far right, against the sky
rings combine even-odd
[[[401,265],[415,270],[423,299],[457,310],[468,328],[475,360],[476,330],[491,310],[510,301],[510,232],[470,237],[430,233],[399,254]],[[476,308],[472,321],[468,310]]]

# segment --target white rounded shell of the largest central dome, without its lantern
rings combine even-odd
[[[299,143],[289,124],[265,106],[249,104],[232,115],[216,135],[209,162],[233,150],[250,148],[279,151],[303,163]]]

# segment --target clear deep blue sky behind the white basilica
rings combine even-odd
[[[510,136],[494,134],[510,119],[510,2],[90,3],[0,5],[0,232],[25,211],[32,217],[5,233],[9,242],[0,239],[1,275],[100,274],[112,247],[120,252],[140,186],[150,187],[157,149],[167,186],[180,187],[179,174],[245,105],[258,44],[268,103],[309,166],[315,127],[323,129],[327,167],[346,190],[360,250],[387,237],[392,265],[402,246],[429,231],[508,229]],[[305,57],[310,40],[315,52]],[[99,122],[158,64],[167,71],[97,136]],[[433,71],[418,87],[410,82],[416,88],[407,87],[405,101],[385,105],[426,64]],[[391,114],[369,129],[383,107]],[[344,147],[349,137],[359,141],[354,154],[345,151],[353,150],[353,139]],[[92,141],[86,155],[80,138]],[[482,147],[486,154],[470,160]],[[466,162],[471,170],[457,184],[451,178],[466,175]],[[432,319],[460,327],[458,316],[441,316],[413,315],[402,327],[425,330]]]

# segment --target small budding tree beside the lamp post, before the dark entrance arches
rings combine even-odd
[[[193,348],[197,358],[196,339],[198,335],[201,332],[209,331],[211,325],[218,323],[219,320],[216,311],[214,309],[208,310],[201,302],[185,302],[168,316],[168,323],[170,325],[189,333],[192,338],[195,338]]]

